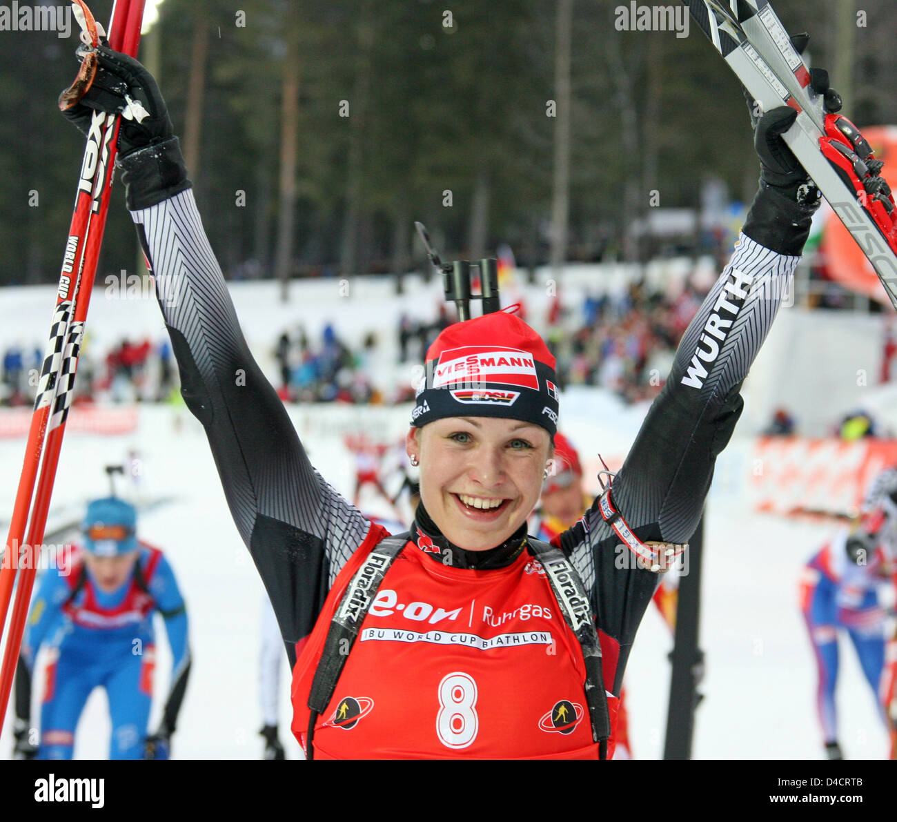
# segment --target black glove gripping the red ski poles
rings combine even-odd
[[[86,47],[77,52],[86,54]],[[84,135],[90,132],[94,111],[121,114],[118,159],[131,211],[155,206],[192,183],[171,127],[168,108],[155,78],[133,57],[109,46],[97,48],[99,67],[83,98],[63,111]]]

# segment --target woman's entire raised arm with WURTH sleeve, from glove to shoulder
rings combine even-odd
[[[682,544],[692,537],[716,458],[741,415],[741,383],[806,242],[819,193],[781,143],[793,121],[790,109],[760,120],[760,190],[735,253],[685,330],[666,385],[614,477],[614,507],[643,541]],[[640,568],[621,545],[598,500],[562,535],[562,547],[591,588],[605,657],[615,660],[610,670],[605,661],[605,681],[617,694],[658,575]]]

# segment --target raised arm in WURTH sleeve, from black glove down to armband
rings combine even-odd
[[[614,503],[633,528],[649,529],[648,538],[691,538],[716,458],[741,415],[741,383],[819,206],[818,189],[781,141],[795,116],[773,109],[757,125],[760,190],[735,253],[686,328],[666,385],[614,481]]]

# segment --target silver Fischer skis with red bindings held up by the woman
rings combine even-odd
[[[849,119],[823,108],[810,72],[768,0],[683,0],[692,19],[763,110],[797,111],[783,136],[897,309],[897,207],[883,163]]]

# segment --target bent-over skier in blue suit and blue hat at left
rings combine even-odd
[[[16,758],[70,759],[91,691],[102,686],[112,720],[110,759],[167,759],[187,686],[187,610],[161,551],[136,538],[136,511],[117,497],[94,500],[73,547],[44,574],[31,605],[16,674]],[[161,725],[147,735],[155,637],[164,617],[173,657]],[[31,676],[41,647],[48,667],[40,734],[31,729]]]

